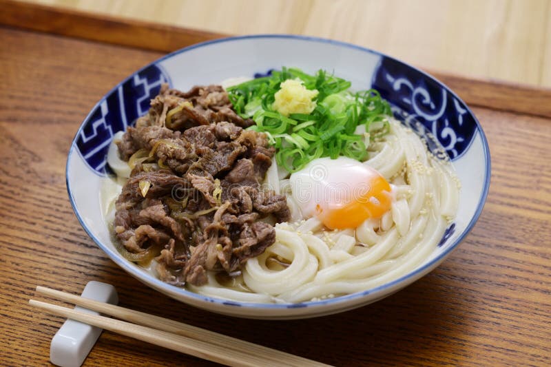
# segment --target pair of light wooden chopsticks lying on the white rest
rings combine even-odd
[[[65,302],[74,303],[90,310],[112,315],[130,322],[83,313],[72,308],[65,308],[36,300],[29,301],[33,306],[43,308],[55,315],[74,319],[92,326],[98,326],[105,330],[113,331],[114,333],[134,337],[144,342],[177,350],[181,353],[194,355],[202,359],[216,361],[221,364],[227,364],[229,366],[328,366],[317,361],[312,361],[311,359],[245,342],[196,326],[175,322],[147,313],[141,313],[121,306],[97,302],[79,297],[78,295],[72,295],[42,286],[37,286],[37,293],[48,295]],[[132,322],[136,324],[132,324]]]

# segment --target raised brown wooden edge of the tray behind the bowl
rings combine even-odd
[[[12,0],[0,0],[0,8],[0,24],[160,52],[171,52],[224,36]],[[470,106],[551,116],[549,89],[483,81],[444,72],[432,74],[448,84]]]

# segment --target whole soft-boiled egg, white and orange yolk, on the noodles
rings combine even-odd
[[[304,218],[329,229],[358,227],[391,209],[391,185],[377,170],[352,158],[318,158],[291,174],[293,199]]]

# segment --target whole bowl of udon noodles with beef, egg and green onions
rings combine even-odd
[[[90,238],[143,284],[236,317],[329,315],[435,269],[477,221],[490,154],[446,85],[290,35],[178,50],[99,101],[67,158]]]

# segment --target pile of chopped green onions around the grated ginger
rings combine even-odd
[[[311,114],[283,116],[273,109],[275,93],[287,79],[299,79],[306,89],[318,90]],[[355,134],[360,125],[370,141],[388,134],[392,116],[388,102],[376,90],[351,93],[350,86],[351,82],[324,70],[309,75],[283,67],[271,76],[229,87],[228,94],[236,113],[255,121],[249,129],[267,134],[278,165],[292,173],[320,157],[364,160],[369,141]]]

